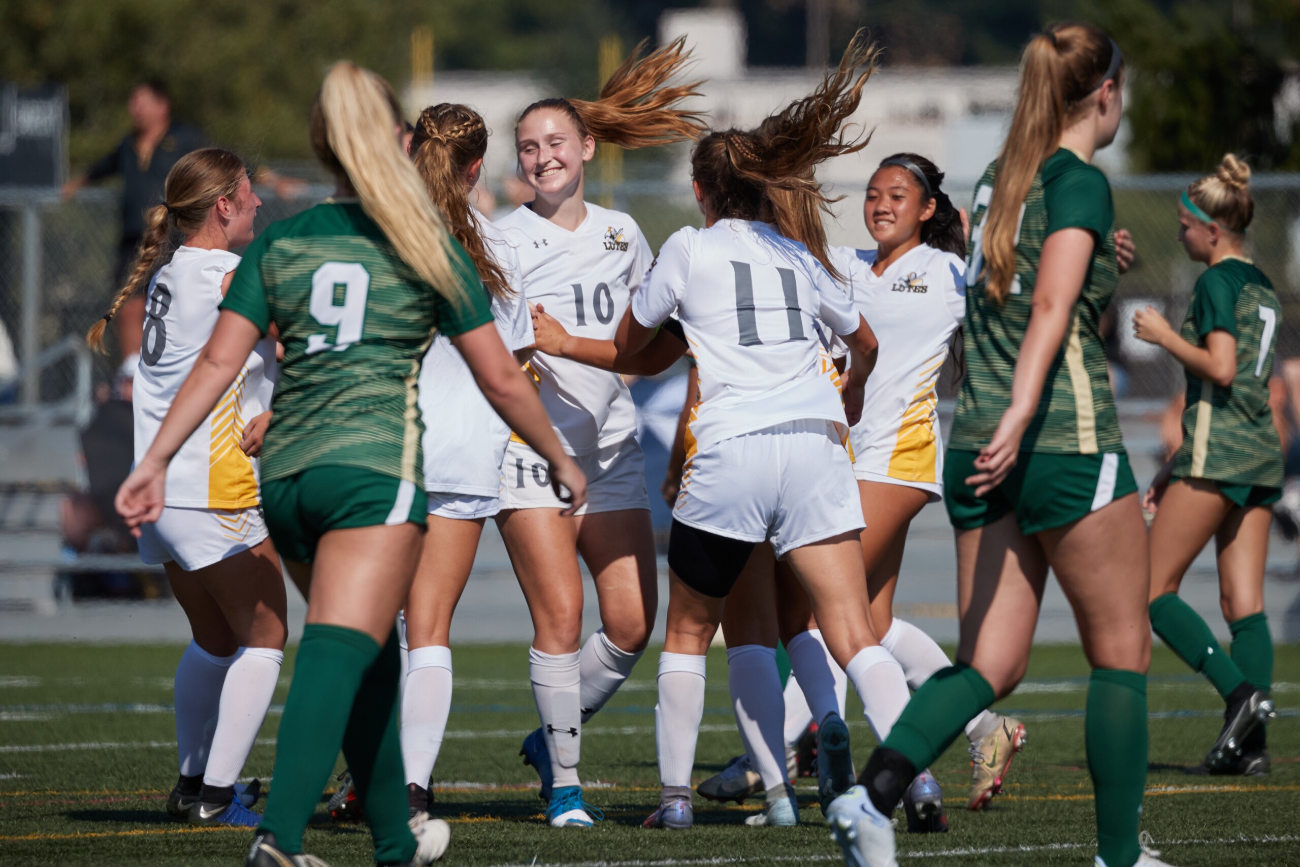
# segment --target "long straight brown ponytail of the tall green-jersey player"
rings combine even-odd
[[[1020,204],[1043,161],[1057,148],[1066,121],[1109,81],[1114,52],[1115,44],[1102,30],[1083,23],[1052,25],[1024,48],[1015,114],[997,156],[993,199],[984,217],[985,291],[1000,304],[1015,277]],[[1112,74],[1118,84],[1119,69]],[[978,278],[970,274],[971,282]]]

